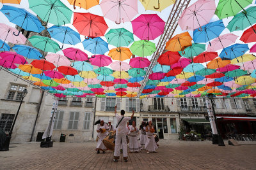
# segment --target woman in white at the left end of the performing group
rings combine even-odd
[[[100,124],[97,127],[97,132],[98,132],[98,141],[97,141],[97,153],[100,153],[100,150],[102,150],[102,153],[105,153],[107,150],[106,146],[103,143],[103,139],[106,138],[108,134],[108,125],[104,124],[104,121],[101,120]]]

